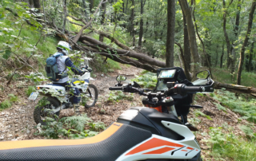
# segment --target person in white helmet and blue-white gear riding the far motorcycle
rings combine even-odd
[[[66,41],[59,41],[58,45],[57,45],[57,49],[58,49],[58,52],[54,53],[54,55],[58,55],[59,53],[63,54],[61,57],[57,58],[58,71],[60,71],[60,73],[62,73],[62,74],[67,73],[68,70],[70,69],[76,75],[84,74],[84,72],[82,72],[81,70],[79,70],[75,67],[74,63],[70,60],[70,57],[68,57],[69,50],[72,50],[69,43],[67,43]],[[69,81],[68,76],[60,79],[59,81],[53,81],[53,83],[62,85],[63,87],[65,87],[65,86],[70,87],[70,84],[74,85],[73,82]],[[80,113],[79,113],[79,102],[81,99],[81,97],[79,96],[80,92],[79,92],[78,88],[71,87],[71,89],[72,90],[70,90],[70,91],[73,92],[73,94],[74,94],[74,100],[73,100],[74,114],[76,116],[78,116],[78,115],[80,115]]]

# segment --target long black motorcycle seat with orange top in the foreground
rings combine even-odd
[[[114,123],[104,132],[86,139],[30,139],[0,142],[0,160],[114,161],[151,132]]]

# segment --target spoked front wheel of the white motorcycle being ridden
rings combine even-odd
[[[98,89],[94,84],[89,84],[86,92],[86,96],[82,96],[82,105],[86,108],[94,107],[98,100]]]

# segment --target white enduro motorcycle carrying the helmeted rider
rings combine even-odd
[[[82,105],[84,105],[85,108],[94,107],[98,100],[98,89],[94,84],[89,83],[89,81],[94,81],[94,79],[90,77],[92,69],[90,69],[90,67],[87,67],[86,69],[86,66],[83,64],[79,66],[79,69],[86,73],[78,78],[71,79],[74,85],[70,84],[70,87],[63,87],[59,84],[36,86],[37,92],[32,92],[29,100],[36,100],[38,95],[46,96],[48,100],[48,104],[40,104],[38,107],[34,108],[34,122],[36,124],[41,123],[42,125],[46,125],[46,122],[44,121],[46,116],[54,118],[55,116],[59,116],[62,109],[73,108],[73,95],[70,93],[72,87],[78,88],[80,93],[82,93],[81,100]],[[52,92],[47,92],[47,89],[52,89],[54,92],[58,92],[58,97],[53,96]],[[59,99],[65,101],[61,104]]]

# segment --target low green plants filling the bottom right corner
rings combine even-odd
[[[246,141],[238,138],[232,131],[223,133],[222,128],[210,128],[210,155],[219,160],[254,160],[256,158],[256,139]]]

